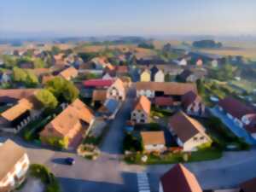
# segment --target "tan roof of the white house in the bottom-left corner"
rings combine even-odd
[[[24,148],[7,140],[0,146],[0,181],[11,172],[15,164],[26,154]]]

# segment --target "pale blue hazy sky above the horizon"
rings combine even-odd
[[[256,0],[0,0],[0,32],[254,35]]]

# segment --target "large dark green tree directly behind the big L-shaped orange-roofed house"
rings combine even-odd
[[[75,85],[61,77],[49,80],[46,89],[52,92],[59,102],[73,102],[79,96],[79,90]]]

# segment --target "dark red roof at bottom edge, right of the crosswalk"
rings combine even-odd
[[[160,177],[164,192],[202,192],[195,175],[177,164],[169,172]]]

